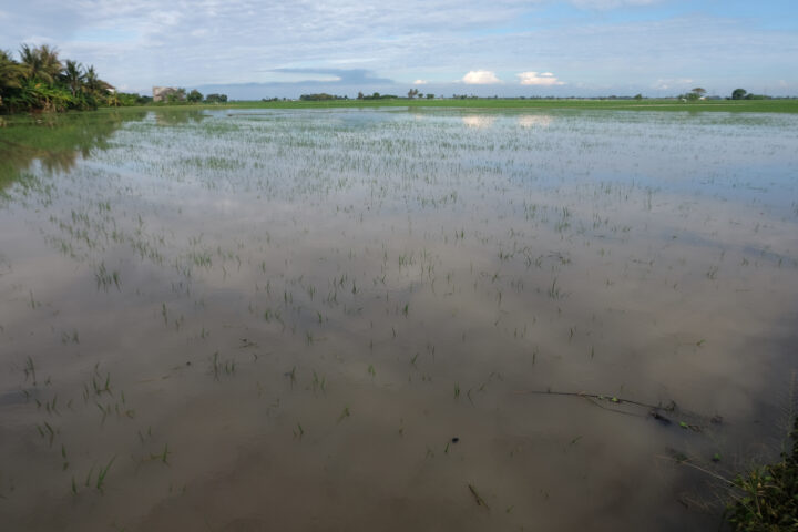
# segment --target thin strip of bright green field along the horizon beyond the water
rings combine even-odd
[[[232,102],[229,108],[317,109],[317,108],[468,108],[468,109],[608,109],[641,111],[724,111],[748,113],[798,113],[798,99],[789,100],[710,100],[679,102],[677,100],[330,100],[324,102]]]

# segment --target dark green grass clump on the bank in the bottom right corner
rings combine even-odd
[[[790,453],[782,452],[780,462],[749,471],[734,480],[744,494],[726,507],[733,530],[798,530],[798,418],[790,438],[792,450]]]

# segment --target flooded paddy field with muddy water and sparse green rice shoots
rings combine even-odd
[[[4,530],[706,530],[780,450],[797,116],[48,120],[0,130]]]

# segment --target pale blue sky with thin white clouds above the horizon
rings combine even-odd
[[[120,91],[798,95],[798,0],[0,0]]]

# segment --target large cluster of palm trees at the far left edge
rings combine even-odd
[[[54,47],[22,44],[17,58],[0,50],[0,111],[4,113],[121,104],[94,66],[61,60]]]

